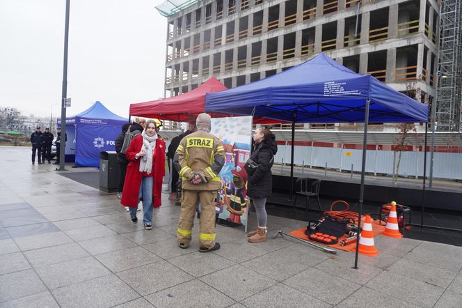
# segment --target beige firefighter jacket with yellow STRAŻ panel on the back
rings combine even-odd
[[[225,164],[225,151],[220,139],[208,132],[198,131],[180,141],[175,152],[175,167],[182,178],[183,190],[219,190],[218,174]],[[189,180],[198,174],[202,183]]]

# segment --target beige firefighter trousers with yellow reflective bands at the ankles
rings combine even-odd
[[[189,246],[196,206],[200,202],[199,247],[211,249],[215,246],[215,198],[216,190],[182,190],[178,244]]]

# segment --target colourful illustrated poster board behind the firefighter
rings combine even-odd
[[[247,231],[249,200],[244,164],[250,156],[252,116],[212,118],[212,134],[223,142],[225,166],[220,172],[222,189],[218,192],[218,218],[243,224]]]

